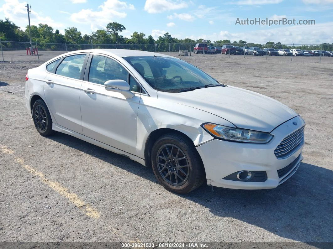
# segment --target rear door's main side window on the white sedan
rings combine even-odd
[[[81,70],[86,55],[72,55],[66,57],[58,66],[56,74],[80,79]]]

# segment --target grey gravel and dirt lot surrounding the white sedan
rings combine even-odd
[[[0,62],[0,241],[333,242],[333,64],[182,59],[304,118],[296,174],[270,190],[167,192],[151,169],[128,158],[65,134],[38,135],[23,99],[25,74],[38,62]]]

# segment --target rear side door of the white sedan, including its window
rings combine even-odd
[[[80,91],[87,53],[62,59],[44,79],[44,94],[58,125],[83,134]]]

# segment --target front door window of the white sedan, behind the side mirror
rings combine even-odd
[[[123,79],[128,82],[128,76],[128,71],[118,62],[100,55],[93,56],[89,69],[89,82],[101,85],[112,79]]]

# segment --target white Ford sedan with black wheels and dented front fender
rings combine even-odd
[[[129,157],[176,193],[203,182],[274,188],[303,159],[296,112],[167,55],[66,53],[28,70],[25,98],[41,135],[58,131]]]

